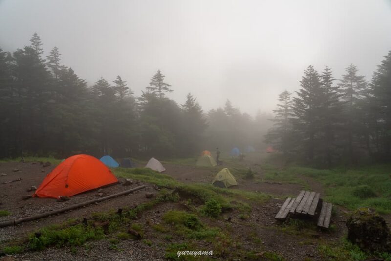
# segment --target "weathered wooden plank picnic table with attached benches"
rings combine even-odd
[[[320,210],[320,211],[319,211]],[[288,216],[292,218],[314,218],[318,216],[318,227],[330,226],[332,204],[324,202],[320,193],[300,191],[296,198],[288,197],[282,204],[276,219],[284,220]]]

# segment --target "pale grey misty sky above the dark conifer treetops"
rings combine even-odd
[[[204,110],[230,99],[254,115],[310,64],[370,79],[391,50],[391,0],[0,0],[2,49],[34,32],[89,85],[120,75],[140,95],[160,69],[180,104],[191,92]]]

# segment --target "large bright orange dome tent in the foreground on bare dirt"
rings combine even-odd
[[[75,155],[65,159],[49,173],[33,196],[73,196],[116,182],[118,179],[99,159]]]

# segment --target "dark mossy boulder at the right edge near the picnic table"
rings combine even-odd
[[[346,221],[348,240],[364,251],[390,252],[391,234],[384,218],[369,208],[359,208]]]

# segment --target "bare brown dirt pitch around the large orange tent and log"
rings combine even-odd
[[[58,202],[54,198],[38,198],[33,197],[27,200],[23,200],[22,196],[32,195],[33,192],[27,192],[31,186],[38,187],[43,179],[55,166],[49,166],[43,168],[39,163],[31,162],[8,162],[0,165],[0,200],[1,210],[7,210],[11,212],[10,215],[1,217],[0,222],[6,220],[13,220],[18,218],[30,217],[32,215],[60,209],[69,205],[81,203],[91,199],[98,198],[97,190],[92,190],[86,193],[72,196],[70,200],[64,202]],[[18,169],[18,171],[14,171]],[[42,171],[44,170],[44,172]],[[1,176],[6,174],[6,176]],[[3,184],[4,182],[17,180],[22,178],[21,181]],[[135,191],[127,196],[114,197],[109,200],[99,202],[97,204],[89,205],[84,208],[70,210],[61,215],[55,215],[48,218],[43,218],[38,221],[30,221],[17,226],[0,228],[0,242],[13,238],[15,236],[22,236],[25,233],[34,231],[40,227],[47,226],[53,223],[60,223],[69,218],[83,218],[89,217],[93,212],[108,211],[111,209],[134,207],[140,203],[145,202],[145,193],[154,193],[156,190],[151,184],[144,184],[142,182],[134,181],[130,186],[123,186],[121,184],[110,185],[102,188],[102,193],[105,195],[115,194],[121,191],[132,189],[141,185],[147,187],[139,191]]]

